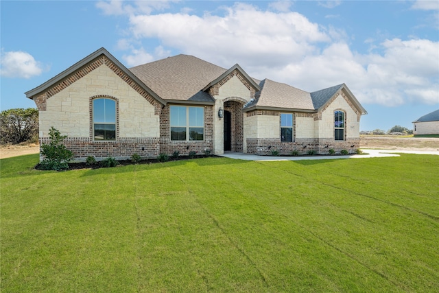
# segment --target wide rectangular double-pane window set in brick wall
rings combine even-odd
[[[170,106],[171,141],[204,140],[204,108]]]

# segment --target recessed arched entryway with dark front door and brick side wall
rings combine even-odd
[[[235,98],[236,99],[236,98]],[[224,102],[224,151],[243,152],[245,100],[226,99]]]

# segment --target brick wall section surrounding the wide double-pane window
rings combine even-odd
[[[204,150],[213,150],[213,106],[204,106],[204,141],[171,141],[169,128],[169,104],[162,109],[160,116],[160,153],[180,152],[187,155],[191,151],[203,154]],[[185,105],[190,106],[190,105]]]

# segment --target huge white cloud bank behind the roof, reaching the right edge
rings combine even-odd
[[[130,15],[132,36],[118,44],[131,50],[123,60],[140,65],[174,49],[226,68],[239,63],[254,78],[305,91],[346,83],[365,104],[438,103],[439,42],[366,39],[373,50],[358,54],[342,28],[312,23],[297,12],[236,3],[222,15],[189,13]],[[148,52],[141,45],[145,39],[158,40],[161,47]]]

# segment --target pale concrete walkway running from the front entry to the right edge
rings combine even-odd
[[[242,152],[225,152],[219,156],[225,156],[230,159],[239,159],[247,161],[300,161],[300,160],[328,160],[328,159],[364,159],[377,158],[384,156],[399,156],[401,154],[436,154],[439,151],[412,151],[412,150],[371,150],[361,149],[365,154],[349,154],[346,156],[258,156],[256,154],[244,154]]]

